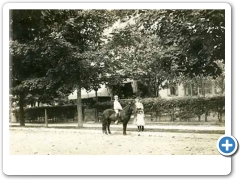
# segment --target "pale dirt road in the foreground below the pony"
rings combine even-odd
[[[10,154],[16,155],[218,155],[221,134],[10,128]]]

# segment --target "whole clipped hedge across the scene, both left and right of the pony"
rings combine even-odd
[[[120,103],[125,107],[129,102],[134,100],[120,100]],[[225,112],[225,96],[216,97],[183,97],[172,99],[161,98],[144,98],[142,100],[145,113],[156,114],[161,116],[163,114],[170,116],[174,121],[179,118],[183,121],[188,121],[191,118],[198,117],[199,121],[202,115],[205,115],[205,121],[209,113],[215,113],[218,115],[218,120],[222,121],[222,116]],[[83,109],[87,108],[83,106]],[[91,108],[97,108],[99,112],[105,109],[113,109],[113,101],[99,102],[91,106]],[[51,107],[34,107],[25,109],[25,120],[35,122],[39,118],[44,121],[45,109],[47,109],[48,119],[54,119],[54,121],[67,121],[74,119],[77,114],[76,105],[65,106],[51,106]],[[84,112],[84,111],[83,111]],[[18,111],[15,111],[18,118]]]

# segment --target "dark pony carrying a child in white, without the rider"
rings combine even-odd
[[[123,123],[123,135],[127,135],[126,133],[127,124],[131,118],[134,109],[135,104],[133,102],[129,102],[128,105],[125,106],[123,110],[120,112],[119,121]],[[112,121],[116,120],[117,117],[115,116],[115,111],[113,109],[106,109],[105,111],[103,111],[102,131],[104,134],[111,134],[110,124]]]

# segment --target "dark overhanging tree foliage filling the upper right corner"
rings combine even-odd
[[[152,10],[140,14],[143,32],[158,35],[162,45],[180,48],[177,70],[186,76],[216,77],[225,61],[224,10]]]

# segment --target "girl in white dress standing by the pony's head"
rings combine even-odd
[[[139,98],[135,99],[136,103],[136,124],[138,131],[144,131],[145,120],[144,120],[144,108]]]

